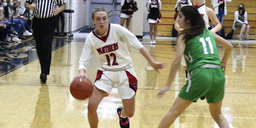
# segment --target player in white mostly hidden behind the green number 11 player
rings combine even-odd
[[[221,30],[221,28],[222,28],[221,23],[219,23],[219,20],[216,17],[214,11],[212,9],[208,8],[207,6],[205,6],[205,4],[203,4],[203,0],[194,0],[194,2],[191,3],[191,5],[195,6],[197,8],[198,12],[200,13],[200,15],[202,16],[202,18],[204,20],[205,28],[208,29],[209,19],[211,19],[213,24],[216,25],[216,27],[211,29],[211,31],[213,33],[215,33],[217,31]],[[179,24],[177,23],[177,20],[175,20],[174,28],[178,32],[183,30],[183,29],[179,28]],[[184,66],[184,69],[186,72],[186,78],[189,78],[189,74],[187,73],[187,64],[186,64],[184,55],[181,58],[181,65]],[[205,97],[201,97],[200,99],[203,100],[204,98]]]

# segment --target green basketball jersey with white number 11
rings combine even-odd
[[[187,42],[184,56],[188,72],[207,63],[221,66],[215,39],[207,29]]]

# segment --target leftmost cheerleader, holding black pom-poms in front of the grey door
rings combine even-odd
[[[132,14],[138,11],[137,2],[134,0],[121,0],[121,7],[122,11],[120,12],[120,25],[124,26],[126,20],[126,28],[130,30]]]

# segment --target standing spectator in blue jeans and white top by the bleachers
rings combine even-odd
[[[224,16],[227,15],[227,2],[231,2],[232,0],[214,0],[213,8],[216,17],[219,19],[221,25],[223,24]],[[221,34],[221,30],[217,32],[218,35]]]

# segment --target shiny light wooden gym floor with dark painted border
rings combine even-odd
[[[40,64],[34,40],[0,51],[0,128],[89,128],[88,100],[76,100],[69,93],[69,85],[78,74],[79,58],[84,38],[55,38],[51,72],[46,84],[41,84]],[[156,128],[173,104],[186,78],[183,67],[176,74],[170,90],[156,98],[165,86],[175,55],[175,41],[157,40],[152,47],[141,39],[156,61],[168,66],[155,72],[144,57],[130,48],[134,69],[138,76],[136,111],[130,118],[131,128]],[[256,127],[256,43],[233,42],[234,49],[226,69],[226,93],[222,113],[229,126]],[[223,48],[218,47],[222,57]],[[94,81],[98,69],[95,54],[87,71]],[[99,128],[118,128],[116,109],[122,106],[117,89],[113,89],[99,105]],[[206,100],[200,99],[187,108],[171,128],[215,128]]]

